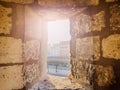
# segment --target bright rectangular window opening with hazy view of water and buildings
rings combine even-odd
[[[48,74],[66,77],[70,73],[70,21],[48,21],[47,30]]]

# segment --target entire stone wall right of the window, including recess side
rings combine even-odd
[[[99,2],[71,18],[71,73],[95,90],[120,89],[120,5]]]

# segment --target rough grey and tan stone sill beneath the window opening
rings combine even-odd
[[[77,83],[71,83],[67,77],[48,75],[48,78],[29,90],[85,90]]]

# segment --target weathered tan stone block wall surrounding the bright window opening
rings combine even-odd
[[[46,77],[46,22],[56,18],[70,19],[74,80],[119,90],[119,0],[0,0],[0,90],[25,90]]]

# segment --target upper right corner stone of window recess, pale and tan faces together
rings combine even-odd
[[[101,31],[105,27],[105,12],[100,11],[92,17],[80,14],[74,18],[74,27],[77,34],[84,34],[91,31]]]

